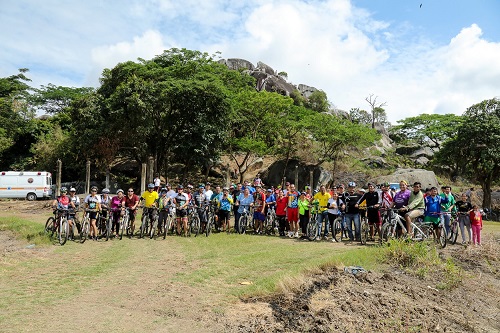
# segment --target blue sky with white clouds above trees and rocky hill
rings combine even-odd
[[[342,110],[389,120],[499,97],[496,0],[0,0],[0,76],[97,86],[104,68],[172,47],[262,61]],[[422,4],[422,7],[420,7]]]

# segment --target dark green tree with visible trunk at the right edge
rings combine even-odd
[[[445,143],[440,160],[456,159],[483,190],[483,207],[491,207],[491,185],[500,176],[500,99],[469,107],[454,139]],[[445,164],[446,165],[446,164]]]

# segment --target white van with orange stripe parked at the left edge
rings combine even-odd
[[[0,198],[50,198],[52,175],[46,171],[0,172]]]

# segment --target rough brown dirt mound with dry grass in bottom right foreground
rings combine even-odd
[[[449,248],[463,269],[456,287],[438,289],[446,276],[421,278],[399,269],[353,275],[330,268],[289,293],[243,300],[233,332],[500,332],[498,244]],[[493,255],[496,253],[496,255]],[[461,260],[464,257],[468,260]],[[241,316],[240,316],[241,318]]]

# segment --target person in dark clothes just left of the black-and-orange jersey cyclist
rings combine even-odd
[[[347,228],[347,234],[352,241],[356,238],[357,241],[361,240],[361,221],[359,219],[359,205],[358,201],[361,199],[361,194],[356,192],[356,183],[349,182],[347,184],[347,192],[344,193],[344,185],[337,186],[337,193],[339,198],[345,203],[345,214],[343,228]],[[354,235],[352,232],[352,224],[354,223]],[[342,231],[343,232],[343,231]]]

